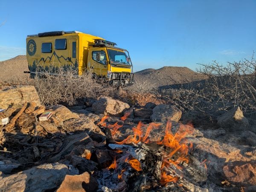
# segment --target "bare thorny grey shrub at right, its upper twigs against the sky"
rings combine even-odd
[[[213,116],[234,106],[241,106],[247,114],[256,112],[256,62],[253,57],[226,66],[216,61],[201,64],[198,72],[207,79],[176,85],[160,93],[183,110],[197,110]]]

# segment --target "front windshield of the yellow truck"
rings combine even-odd
[[[120,63],[125,65],[131,65],[130,58],[125,52],[108,49],[108,55],[111,63]]]

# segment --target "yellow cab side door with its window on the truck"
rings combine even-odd
[[[106,76],[108,72],[107,50],[102,47],[93,47],[88,55],[89,69],[98,76]]]

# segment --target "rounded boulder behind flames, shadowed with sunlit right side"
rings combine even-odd
[[[166,122],[168,120],[180,120],[182,113],[175,106],[160,104],[153,109],[153,114],[150,116],[153,122]]]

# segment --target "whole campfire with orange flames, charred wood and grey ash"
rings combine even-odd
[[[186,140],[186,135],[193,132],[181,124],[175,134],[172,132],[172,122],[167,121],[163,136],[157,140],[151,139],[151,131],[164,126],[163,123],[143,124],[141,121],[132,128],[133,135],[128,135],[123,140],[115,140],[122,128],[124,121],[129,116],[126,113],[114,124],[107,123],[109,116],[104,116],[97,123],[99,127],[107,128],[111,132],[108,146],[119,154],[104,172],[96,172],[96,178],[102,187],[122,190],[187,190],[196,188],[198,179],[207,179],[207,166],[204,160],[199,164],[189,161],[189,153],[193,150],[191,142]],[[192,123],[189,122],[189,126]],[[195,172],[197,175],[195,175]],[[186,175],[192,174],[195,178],[188,181]],[[122,184],[121,184],[122,183]]]

